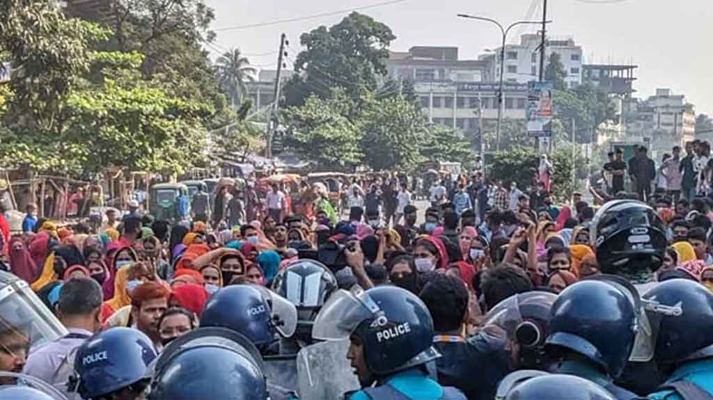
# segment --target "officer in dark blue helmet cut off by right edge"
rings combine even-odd
[[[681,315],[661,318],[656,362],[668,379],[651,399],[713,398],[713,294],[697,282],[672,279],[657,284],[644,298],[679,305]]]

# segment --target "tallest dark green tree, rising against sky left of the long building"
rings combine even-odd
[[[354,101],[376,90],[377,76],[386,75],[384,60],[396,38],[391,29],[370,16],[353,12],[336,25],[302,33],[306,48],[294,62],[297,73],[284,88],[287,105],[302,105],[310,95],[325,98],[341,87]]]

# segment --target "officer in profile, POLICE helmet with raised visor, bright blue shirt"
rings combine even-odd
[[[407,290],[339,290],[317,315],[312,335],[349,338],[347,359],[362,387],[351,400],[466,399],[429,377],[426,364],[439,357],[432,345],[434,323],[426,305]]]

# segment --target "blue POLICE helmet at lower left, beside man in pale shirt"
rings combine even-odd
[[[148,387],[148,366],[156,357],[153,342],[143,332],[113,327],[78,348],[70,386],[82,399],[101,399],[126,387],[139,394]]]

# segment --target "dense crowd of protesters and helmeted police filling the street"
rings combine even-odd
[[[425,210],[398,176],[344,182],[343,212],[274,185],[238,224],[29,209],[0,273],[0,399],[296,399],[265,365],[312,351],[308,386],[346,393],[309,399],[712,399],[713,193],[627,192],[613,155],[601,204],[553,204],[544,158],[524,191],[436,180]]]

